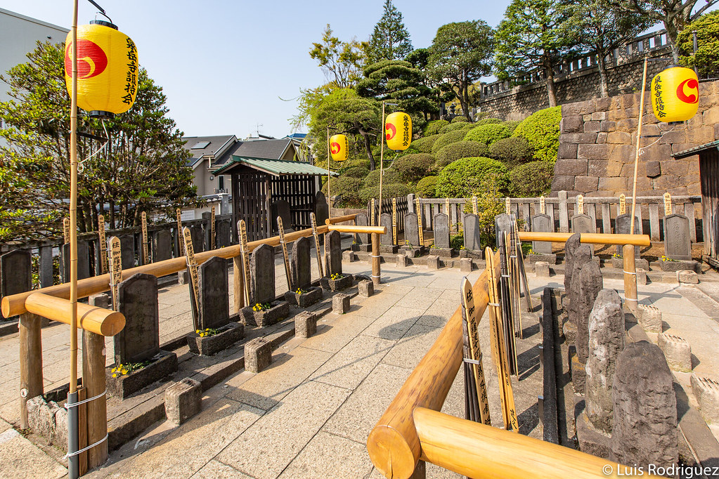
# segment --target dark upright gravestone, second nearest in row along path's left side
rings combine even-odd
[[[227,261],[213,256],[198,266],[200,329],[218,328],[229,322]]]

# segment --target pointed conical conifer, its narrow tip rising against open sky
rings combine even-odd
[[[392,0],[385,0],[385,11],[370,37],[367,49],[369,62],[404,60],[411,51],[412,42],[402,22],[402,13],[392,4]]]

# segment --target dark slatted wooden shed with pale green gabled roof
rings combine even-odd
[[[272,206],[281,200],[289,203],[292,218],[292,224],[284,225],[285,228],[309,228],[310,213],[316,212],[318,206],[317,198],[324,201],[319,185],[327,170],[306,162],[233,155],[214,175],[232,177],[232,229],[237,233],[237,222],[244,220],[247,240],[255,241],[273,236]],[[320,208],[326,211],[326,205]],[[319,214],[317,220],[324,223]]]

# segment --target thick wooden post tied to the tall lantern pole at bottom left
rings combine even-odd
[[[83,331],[83,389],[88,397],[94,397],[106,389],[105,337]],[[87,442],[95,444],[107,434],[107,396],[87,404]],[[107,460],[107,441],[88,451],[88,469],[96,468]]]

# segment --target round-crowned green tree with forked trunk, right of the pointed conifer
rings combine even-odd
[[[470,85],[492,71],[493,29],[483,20],[439,27],[429,47],[429,75],[452,86],[462,112],[470,116]]]

